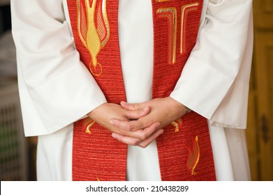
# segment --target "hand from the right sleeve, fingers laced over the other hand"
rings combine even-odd
[[[186,113],[186,107],[172,98],[156,98],[139,104],[121,102],[121,107],[128,111],[140,111],[149,108],[148,113],[143,114],[138,120],[120,120],[112,118],[110,123],[119,130],[126,132],[138,132],[140,138],[135,139],[125,134],[114,132],[112,137],[121,142],[145,148],[160,134],[163,127],[169,125]],[[149,129],[149,134],[145,130]]]

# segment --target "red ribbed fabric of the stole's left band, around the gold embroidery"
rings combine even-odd
[[[82,44],[77,30],[76,1],[68,0],[67,3],[75,45],[80,52],[81,61],[89,68],[91,56]],[[94,78],[108,102],[119,103],[126,100],[126,96],[117,34],[118,1],[107,1],[107,6],[111,35],[98,55],[98,63],[103,66],[103,72]],[[91,134],[84,132],[85,128],[84,120],[74,123],[73,180],[126,180],[126,144],[112,139],[110,131],[98,123],[92,126]]]

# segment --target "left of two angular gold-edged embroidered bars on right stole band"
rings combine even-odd
[[[177,10],[176,8],[158,8],[158,18],[168,20],[168,63],[175,64],[177,48]]]

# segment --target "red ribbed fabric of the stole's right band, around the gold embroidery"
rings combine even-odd
[[[197,6],[196,3],[199,3]],[[153,98],[168,97],[175,88],[184,64],[195,45],[202,12],[202,1],[167,1],[158,3],[152,1],[154,18],[154,77]],[[184,21],[182,7],[184,6]],[[170,44],[170,24],[167,17],[158,18],[158,9],[176,8],[177,10],[177,45],[182,42],[181,31],[184,29],[184,52],[176,49],[176,61],[169,64],[168,50]],[[164,13],[168,12],[164,10]],[[168,36],[167,36],[168,35]],[[209,138],[207,120],[195,112],[182,117],[179,132],[173,125],[164,128],[164,133],[156,140],[162,180],[216,180],[212,146]],[[189,150],[193,147],[193,139],[198,136],[200,148],[199,162],[195,168],[196,175],[187,169]]]

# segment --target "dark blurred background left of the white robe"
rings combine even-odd
[[[10,0],[0,0],[0,180],[36,180],[36,139],[24,137],[10,29]]]

